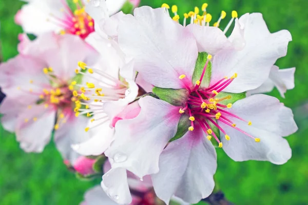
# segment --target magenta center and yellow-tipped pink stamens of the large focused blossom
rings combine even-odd
[[[242,119],[241,117],[228,112],[226,109],[232,108],[232,104],[229,103],[227,105],[223,104],[224,100],[232,98],[231,95],[227,95],[224,97],[219,97],[219,93],[221,93],[228,85],[230,85],[233,80],[237,77],[237,73],[235,73],[232,77],[224,77],[218,80],[214,85],[209,86],[207,88],[201,88],[201,82],[203,80],[206,67],[211,59],[211,55],[208,55],[207,61],[205,63],[204,69],[202,71],[201,77],[196,81],[196,85],[193,88],[187,88],[189,92],[188,100],[185,103],[185,107],[179,110],[179,113],[189,115],[189,120],[191,126],[188,128],[189,131],[194,131],[195,124],[198,123],[202,130],[207,134],[207,139],[210,140],[212,137],[218,142],[218,147],[222,147],[222,142],[212,130],[212,127],[218,128],[224,136],[226,140],[230,140],[229,135],[218,125],[218,121],[236,129],[248,137],[253,138],[256,142],[259,142],[259,138],[255,138],[252,135],[244,132],[243,130],[236,127],[236,124],[230,120],[230,117],[240,119],[246,122],[249,126],[252,125],[251,121],[247,121]],[[180,79],[184,79],[185,75],[180,75]]]

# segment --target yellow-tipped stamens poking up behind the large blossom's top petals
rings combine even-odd
[[[183,26],[185,27],[188,23],[197,24],[197,25],[200,25],[200,26],[209,26],[211,19],[212,19],[212,16],[211,16],[211,14],[207,13],[207,10],[206,10],[207,6],[208,6],[208,4],[204,3],[201,7],[201,12],[200,12],[200,8],[195,7],[194,11],[189,11],[188,13],[184,13]],[[169,7],[168,4],[163,4],[162,8],[165,8],[166,12],[169,13],[170,7]],[[176,5],[173,5],[171,7],[171,12],[174,14],[174,17],[172,17],[172,19],[174,19],[176,22],[179,22],[180,16],[178,15],[178,7]],[[226,12],[221,11],[221,14],[220,14],[217,22],[215,22],[213,24],[213,26],[219,27],[221,20],[224,19],[225,17],[226,17]],[[237,18],[237,17],[238,17],[238,13],[236,11],[232,11],[232,18],[230,19],[229,23],[227,24],[227,26],[223,30],[224,33],[226,33],[228,31],[228,29],[232,25],[234,19]],[[188,22],[188,20],[190,20],[190,22]]]

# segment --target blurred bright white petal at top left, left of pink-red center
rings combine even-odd
[[[24,5],[17,13],[18,24],[25,33],[40,35],[45,32],[59,32],[64,27],[56,18],[65,19],[62,0],[33,0]],[[54,16],[54,17],[53,17]]]

